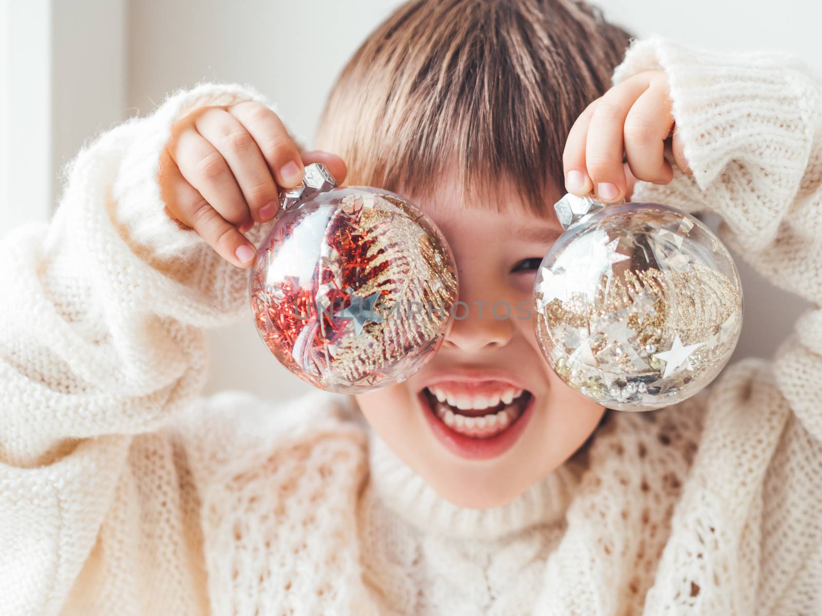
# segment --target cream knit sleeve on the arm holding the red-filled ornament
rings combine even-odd
[[[0,242],[3,614],[59,609],[124,498],[133,439],[198,396],[204,329],[247,310],[248,270],[178,226],[157,180],[176,119],[243,100],[267,104],[250,87],[202,83],[114,127],[69,164],[50,222]]]

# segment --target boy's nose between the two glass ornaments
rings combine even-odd
[[[454,323],[443,347],[474,353],[504,347],[514,332],[513,314],[506,301],[466,301],[455,305]]]

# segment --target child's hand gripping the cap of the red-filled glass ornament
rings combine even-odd
[[[173,125],[160,156],[160,191],[173,218],[229,263],[247,268],[256,247],[242,233],[274,218],[278,186],[297,186],[308,163],[324,163],[339,184],[345,178],[339,156],[319,151],[301,156],[283,122],[265,105],[205,107]]]

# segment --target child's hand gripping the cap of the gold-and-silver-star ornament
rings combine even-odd
[[[672,134],[673,133],[673,134]],[[599,200],[630,199],[634,182],[667,184],[677,167],[690,174],[668,98],[665,71],[645,71],[612,87],[571,126],[562,163],[566,190]]]

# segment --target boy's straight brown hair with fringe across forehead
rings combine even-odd
[[[349,185],[426,196],[455,165],[465,197],[506,180],[543,214],[570,127],[629,43],[585,2],[412,0],[344,67],[316,146]]]

